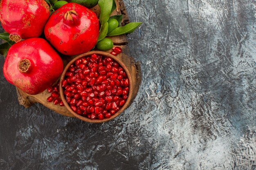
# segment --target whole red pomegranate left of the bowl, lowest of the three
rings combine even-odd
[[[7,81],[29,95],[43,92],[62,71],[61,57],[42,38],[29,38],[13,44],[3,67]]]

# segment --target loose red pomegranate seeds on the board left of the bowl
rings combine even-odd
[[[51,93],[51,96],[47,98],[47,102],[53,102],[53,104],[60,106],[64,106],[62,100],[60,99],[59,86],[60,82],[58,82],[55,86],[49,86],[47,88],[48,93]]]

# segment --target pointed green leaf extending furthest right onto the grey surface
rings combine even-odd
[[[132,33],[137,27],[142,24],[142,22],[130,22],[129,24],[126,24],[125,26],[120,26],[114,29],[111,33],[108,34],[108,36],[116,36],[116,35],[123,35]]]

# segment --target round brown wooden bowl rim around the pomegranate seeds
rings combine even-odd
[[[66,99],[65,99],[65,97],[64,97],[64,93],[63,93],[63,87],[61,86],[61,82],[62,82],[63,79],[65,78],[65,74],[66,74],[68,68],[69,68],[72,64],[74,64],[74,62],[75,62],[77,59],[79,59],[79,58],[81,58],[81,57],[88,57],[88,56],[90,56],[90,55],[92,55],[92,54],[98,54],[98,55],[103,55],[103,56],[105,56],[105,57],[111,57],[111,58],[113,58],[115,61],[117,61],[117,62],[124,68],[124,70],[125,70],[125,72],[126,72],[126,74],[127,74],[127,77],[128,77],[128,79],[129,79],[129,82],[130,82],[129,93],[128,93],[129,95],[128,95],[128,99],[126,100],[126,103],[121,107],[121,109],[120,109],[117,113],[115,113],[114,115],[112,115],[112,116],[111,116],[110,118],[108,118],[108,119],[103,119],[103,120],[99,120],[99,119],[88,119],[87,117],[83,117],[83,116],[80,116],[80,115],[76,114],[76,113],[70,108],[69,104],[67,104],[67,101],[66,101]],[[90,123],[103,123],[103,122],[106,122],[106,121],[110,121],[111,119],[114,119],[115,117],[119,116],[126,108],[129,107],[130,101],[131,101],[131,99],[132,99],[132,92],[133,92],[132,78],[131,78],[131,74],[130,74],[128,68],[126,67],[126,65],[125,65],[121,60],[119,60],[117,57],[115,57],[115,55],[112,55],[112,54],[110,54],[110,53],[106,53],[106,52],[103,52],[103,51],[90,51],[90,52],[88,52],[88,53],[84,53],[84,54],[81,54],[81,55],[75,57],[73,60],[71,60],[71,61],[67,64],[67,66],[65,67],[65,69],[64,69],[64,71],[63,71],[63,73],[62,73],[62,75],[61,75],[61,79],[60,79],[60,95],[61,95],[61,99],[62,99],[62,101],[63,101],[63,104],[65,105],[65,107],[67,108],[67,110],[69,110],[70,113],[71,113],[72,115],[74,115],[76,118],[78,118],[78,119],[80,119],[80,120],[83,120],[83,121],[90,122]]]

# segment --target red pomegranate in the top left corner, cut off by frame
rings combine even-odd
[[[10,40],[39,37],[50,16],[45,0],[1,0],[0,21]]]

